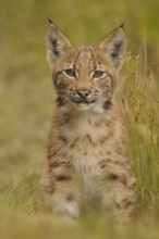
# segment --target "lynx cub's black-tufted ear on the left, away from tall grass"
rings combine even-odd
[[[50,65],[64,54],[68,47],[71,47],[70,40],[62,34],[56,24],[49,21],[49,29],[47,33],[47,60]]]

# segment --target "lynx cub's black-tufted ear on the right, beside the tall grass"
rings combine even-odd
[[[111,32],[99,45],[109,61],[117,68],[121,68],[125,55],[126,39],[123,25]]]

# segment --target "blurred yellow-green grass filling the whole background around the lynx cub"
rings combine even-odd
[[[1,238],[158,238],[158,14],[157,0],[1,0]],[[139,190],[137,218],[127,227],[105,223],[91,210],[77,225],[69,226],[44,210],[41,176],[53,111],[45,59],[48,16],[74,43],[97,43],[113,27],[126,22],[129,49],[121,99],[129,116]]]

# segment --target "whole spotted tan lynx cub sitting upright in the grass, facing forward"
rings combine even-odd
[[[47,59],[57,105],[48,140],[48,202],[56,214],[78,217],[86,199],[106,215],[134,212],[136,178],[115,96],[125,51],[121,27],[98,47],[73,47],[50,21]],[[110,210],[111,209],[111,210]]]

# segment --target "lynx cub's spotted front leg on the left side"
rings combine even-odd
[[[76,187],[76,176],[72,166],[64,161],[49,164],[47,205],[54,214],[70,216],[80,215],[80,193]]]

